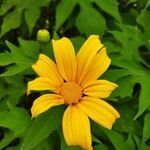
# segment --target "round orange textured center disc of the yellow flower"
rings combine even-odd
[[[60,88],[60,95],[64,98],[67,104],[76,104],[82,97],[82,89],[75,82],[66,82]]]

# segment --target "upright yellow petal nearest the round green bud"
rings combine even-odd
[[[76,74],[75,51],[68,38],[52,40],[55,59],[62,77],[66,81],[73,81]]]

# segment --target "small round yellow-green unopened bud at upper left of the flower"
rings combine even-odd
[[[39,30],[37,33],[37,40],[42,43],[49,42],[50,40],[49,32],[46,29]]]

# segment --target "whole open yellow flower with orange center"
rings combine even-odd
[[[32,66],[39,77],[28,83],[32,90],[52,93],[37,98],[31,108],[32,117],[52,106],[66,104],[62,128],[68,145],[79,145],[92,150],[89,118],[111,129],[119,113],[103,99],[117,87],[107,80],[98,80],[110,65],[106,48],[99,37],[91,35],[75,55],[68,38],[52,40],[56,63],[40,54]]]

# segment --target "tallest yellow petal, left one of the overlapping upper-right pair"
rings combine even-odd
[[[77,54],[77,82],[80,83],[87,75],[87,69],[97,52],[103,47],[99,36],[91,35]]]

